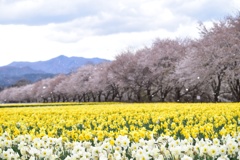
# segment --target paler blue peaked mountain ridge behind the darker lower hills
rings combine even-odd
[[[107,62],[108,60],[100,58],[82,58],[82,57],[66,57],[58,56],[56,58],[47,61],[38,62],[12,62],[8,66],[12,67],[30,67],[34,70],[43,71],[45,73],[59,74],[59,73],[70,73],[75,71],[77,68],[86,64],[98,64]]]

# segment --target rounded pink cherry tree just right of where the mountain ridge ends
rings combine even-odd
[[[137,53],[126,51],[118,55],[111,64],[111,74],[117,80],[115,84],[124,90],[124,96],[129,101],[145,100],[144,86],[148,73],[141,63],[144,53],[144,50]]]

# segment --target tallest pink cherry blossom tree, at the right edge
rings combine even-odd
[[[202,26],[202,38],[192,44],[178,66],[177,72],[181,73],[184,84],[195,88],[202,84],[203,92],[214,102],[224,100],[229,92],[238,99],[238,19],[230,17],[214,22],[210,29]]]

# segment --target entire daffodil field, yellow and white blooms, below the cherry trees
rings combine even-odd
[[[240,159],[239,103],[0,107],[0,159]]]

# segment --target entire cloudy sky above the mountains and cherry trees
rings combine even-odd
[[[239,9],[239,0],[0,0],[0,66],[59,55],[113,60],[156,38],[198,38],[199,22]]]

